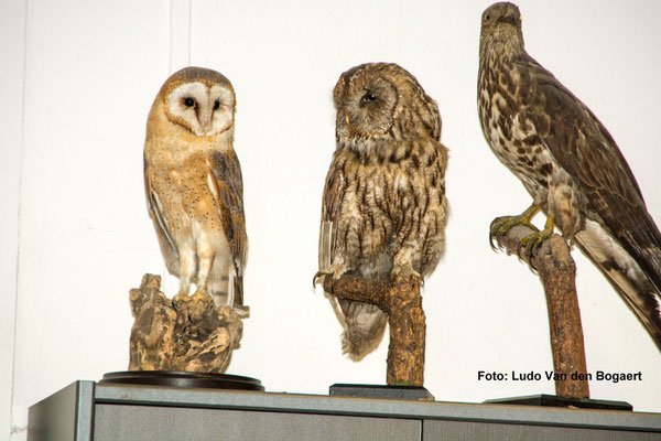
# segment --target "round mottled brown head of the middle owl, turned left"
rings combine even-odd
[[[333,90],[338,141],[441,137],[438,108],[413,75],[392,63],[369,63],[342,74]]]

